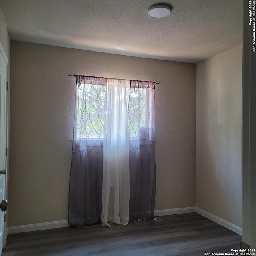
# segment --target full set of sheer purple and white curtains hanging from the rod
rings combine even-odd
[[[90,76],[77,76],[76,82],[70,226],[152,219],[156,191],[154,82]],[[115,153],[108,154],[107,147]],[[115,158],[115,154],[120,156]],[[126,186],[128,196],[124,196],[127,190],[122,191]],[[108,210],[105,218],[102,209]]]

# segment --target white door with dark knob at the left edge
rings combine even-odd
[[[0,49],[0,254],[4,247],[4,214],[6,199],[6,144],[7,144],[7,63]]]

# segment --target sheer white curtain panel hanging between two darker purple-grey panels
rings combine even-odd
[[[130,80],[107,79],[104,112],[102,226],[129,222]]]

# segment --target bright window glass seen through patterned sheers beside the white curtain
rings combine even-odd
[[[76,138],[104,138],[104,106],[106,86],[80,84],[76,92]],[[152,108],[154,90],[130,88],[128,127],[130,140],[152,140],[154,134]]]

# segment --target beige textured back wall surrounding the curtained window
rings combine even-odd
[[[75,79],[158,80],[156,210],[195,206],[196,65],[11,42],[9,224],[66,220]]]

